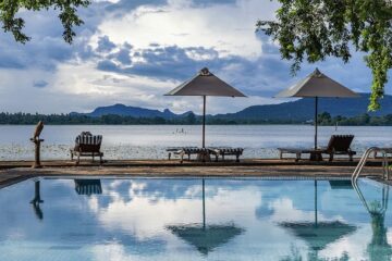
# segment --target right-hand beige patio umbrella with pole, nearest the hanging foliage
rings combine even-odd
[[[322,74],[318,69],[294,86],[279,92],[277,98],[315,98],[315,149],[317,149],[318,98],[358,98],[359,95]]]

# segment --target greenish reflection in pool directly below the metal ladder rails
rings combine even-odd
[[[357,183],[353,183],[355,190],[371,219],[371,241],[367,247],[369,260],[392,260],[392,247],[388,243],[385,227],[385,212],[388,209],[389,185],[383,185],[380,201],[366,201]]]

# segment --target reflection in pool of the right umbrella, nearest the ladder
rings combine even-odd
[[[345,183],[332,183],[334,186]],[[331,185],[332,187],[332,185]],[[280,225],[291,231],[296,237],[307,243],[313,250],[310,260],[317,260],[318,251],[329,244],[343,238],[356,231],[356,227],[340,221],[318,221],[317,215],[317,181],[315,179],[315,221],[314,222],[282,222]]]

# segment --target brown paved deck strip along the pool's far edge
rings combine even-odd
[[[262,179],[338,179],[338,178],[351,178],[351,175],[356,166],[357,162],[343,162],[336,161],[334,164],[331,162],[299,162],[293,161],[280,161],[280,160],[253,160],[250,162],[242,163],[226,163],[224,164],[163,164],[161,161],[148,161],[155,164],[146,164],[145,161],[134,162],[133,165],[78,165],[75,166],[44,166],[42,169],[32,169],[24,165],[24,167],[12,167],[1,170],[0,167],[0,188],[13,185],[15,183],[28,179],[30,177],[237,177],[237,178],[262,178]],[[147,162],[147,163],[148,163]],[[26,163],[26,162],[24,162]],[[140,164],[143,163],[143,164]],[[163,161],[167,163],[167,161]],[[348,164],[347,164],[348,163]],[[375,165],[375,163],[377,163]],[[381,175],[382,167],[378,166],[379,162],[367,165],[362,176],[375,176]],[[0,162],[1,164],[1,162]],[[379,164],[381,165],[381,164]],[[369,172],[370,170],[370,172]],[[377,177],[375,178],[377,179]],[[379,181],[379,179],[378,179]],[[392,184],[390,184],[392,185]]]

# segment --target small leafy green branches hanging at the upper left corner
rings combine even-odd
[[[59,18],[64,27],[63,38],[66,42],[72,44],[75,32],[74,26],[79,26],[84,22],[77,16],[77,8],[87,7],[90,0],[1,0],[0,1],[0,23],[5,33],[11,33],[15,41],[25,44],[30,38],[22,29],[25,22],[17,17],[21,9],[28,11],[40,11],[53,8],[59,10]]]

